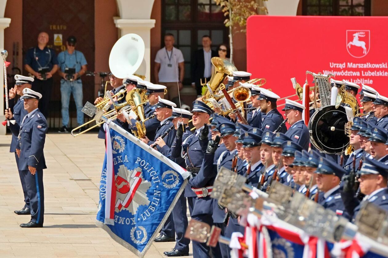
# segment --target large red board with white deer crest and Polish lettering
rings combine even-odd
[[[366,84],[388,96],[388,17],[264,16],[247,21],[247,70],[281,97],[306,71]],[[312,77],[308,77],[312,83]]]

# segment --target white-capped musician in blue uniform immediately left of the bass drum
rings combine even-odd
[[[305,110],[305,106],[289,99],[286,99],[286,105],[282,109],[282,111],[285,111],[287,122],[291,125],[285,135],[297,142],[303,149],[308,150],[310,133],[302,119],[303,110]]]

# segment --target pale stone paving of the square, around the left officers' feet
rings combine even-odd
[[[13,212],[24,203],[9,144],[10,135],[0,135],[0,257],[136,257],[94,224],[104,160],[104,142],[97,134],[47,134],[45,217],[43,228],[36,229],[19,227],[30,217]],[[154,243],[145,257],[166,257],[163,252],[174,246]]]

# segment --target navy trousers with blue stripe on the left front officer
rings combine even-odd
[[[43,214],[45,212],[43,169],[36,169],[35,175],[31,174],[29,170],[23,170],[23,175],[29,198],[31,221],[37,224],[43,224]]]

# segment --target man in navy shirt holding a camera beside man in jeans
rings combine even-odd
[[[36,78],[32,83],[32,90],[42,94],[39,108],[46,118],[49,117],[49,102],[53,84],[52,75],[58,70],[57,55],[55,55],[54,49],[47,48],[48,42],[49,34],[40,32],[38,46],[27,50],[24,60],[24,68]]]

